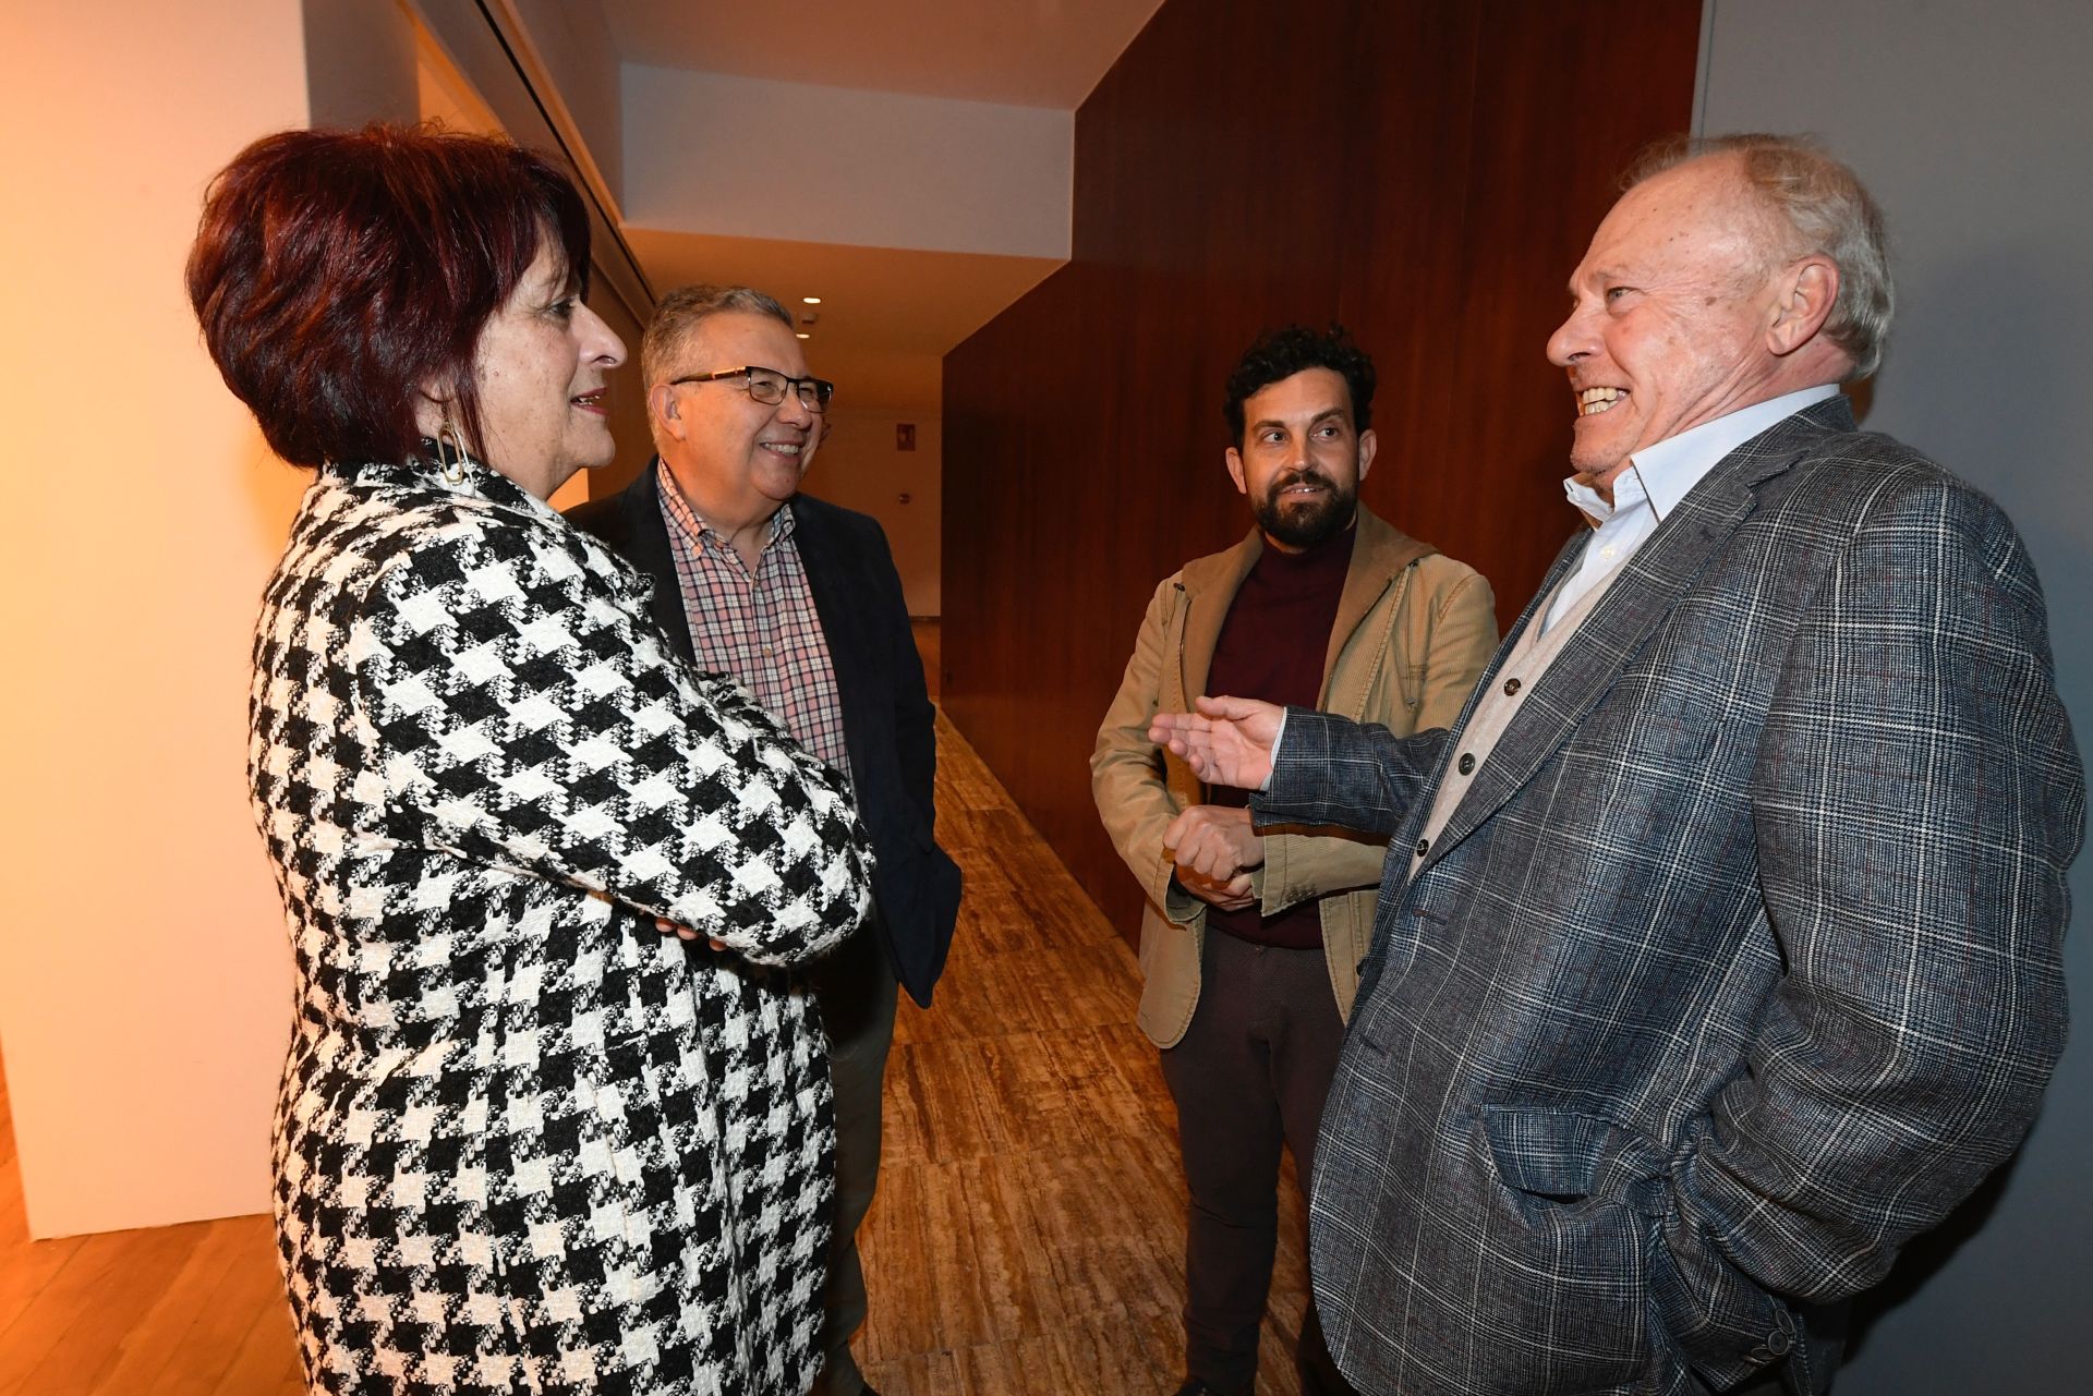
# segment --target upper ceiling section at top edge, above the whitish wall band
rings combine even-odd
[[[599,0],[617,57],[1074,111],[1162,0]]]

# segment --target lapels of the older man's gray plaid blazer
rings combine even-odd
[[[1840,425],[1844,419],[1844,427]],[[1723,456],[1649,540],[1635,550],[1584,624],[1563,651],[1534,682],[1524,707],[1505,728],[1490,760],[1476,772],[1476,783],[1461,800],[1444,833],[1432,846],[1430,862],[1450,852],[1484,820],[1534,779],[1540,766],[1576,733],[1578,724],[1599,705],[1620,672],[1641,653],[1681,596],[1695,584],[1727,546],[1758,502],[1758,486],[1792,467],[1808,444],[1825,429],[1852,429],[1852,412],[1844,398],[1831,398],[1783,419]],[[1543,607],[1563,576],[1582,559],[1582,540],[1572,538],[1540,592],[1513,628],[1513,640],[1499,649],[1484,684],[1492,684],[1496,668],[1515,647],[1526,626],[1538,622]],[[1480,691],[1480,689],[1478,689]]]

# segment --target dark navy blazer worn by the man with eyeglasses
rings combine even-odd
[[[695,661],[691,622],[655,486],[659,458],[605,500],[567,511],[576,527],[653,578],[653,617],[684,659]],[[814,613],[829,640],[843,701],[858,814],[873,839],[873,921],[908,996],[925,1009],[944,973],[959,919],[959,864],[933,837],[938,733],[923,659],[908,632],[908,603],[879,521],[800,494],[791,502],[800,561]]]

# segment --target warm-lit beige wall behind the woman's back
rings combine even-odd
[[[111,8],[121,15],[111,15]],[[0,6],[0,1042],[33,1235],[268,1206],[283,913],[247,647],[303,475],[205,360],[205,180],[306,119],[295,0]]]

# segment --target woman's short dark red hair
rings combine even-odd
[[[188,303],[285,460],[423,454],[414,406],[427,383],[448,385],[483,456],[473,347],[546,237],[586,287],[580,193],[507,140],[423,126],[278,132],[211,180]]]

